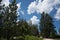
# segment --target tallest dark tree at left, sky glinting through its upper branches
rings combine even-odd
[[[17,21],[17,6],[14,0],[9,6],[4,8],[5,13],[3,17],[3,37],[9,40],[11,37],[17,36],[16,34],[16,21]]]

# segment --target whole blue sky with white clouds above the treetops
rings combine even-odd
[[[12,0],[3,0],[3,4],[8,4]],[[32,21],[32,24],[39,24],[41,13],[48,13],[54,21],[56,30],[60,28],[60,0],[17,0],[19,18]]]

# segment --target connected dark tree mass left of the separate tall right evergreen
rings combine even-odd
[[[5,38],[7,40],[14,40],[13,37],[19,37],[24,35],[38,35],[38,29],[35,25],[28,25],[28,23],[25,20],[17,21],[17,6],[16,6],[16,0],[13,0],[9,6],[4,7],[0,6],[0,22],[2,24],[2,27],[0,25],[0,37]],[[23,39],[23,38],[21,38]]]

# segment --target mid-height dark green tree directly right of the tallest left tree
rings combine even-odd
[[[25,20],[20,20],[19,22],[18,22],[18,27],[20,27],[20,35],[21,36],[24,36],[24,35],[27,35],[27,34],[29,34],[29,25],[28,25],[28,23],[25,21]]]

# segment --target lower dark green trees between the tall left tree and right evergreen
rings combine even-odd
[[[25,20],[20,20],[18,23],[18,27],[20,28],[20,35],[38,35],[38,29],[35,25],[28,25]]]

